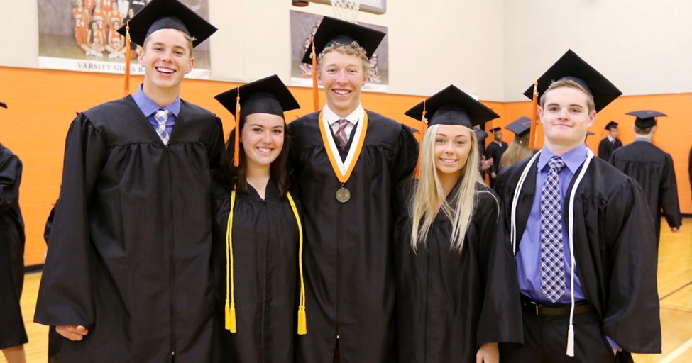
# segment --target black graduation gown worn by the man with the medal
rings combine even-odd
[[[341,183],[322,143],[319,113],[289,124],[306,238],[307,335],[296,338],[296,362],[331,362],[337,336],[342,363],[396,361],[392,197],[415,169],[418,147],[405,125],[366,112],[346,203],[334,196]]]

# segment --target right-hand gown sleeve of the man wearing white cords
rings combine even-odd
[[[604,333],[626,352],[660,353],[656,235],[647,201],[628,179],[605,203],[611,273],[605,281]]]

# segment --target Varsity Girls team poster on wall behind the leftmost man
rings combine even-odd
[[[80,72],[125,72],[125,37],[116,30],[150,0],[37,0],[38,65]],[[181,0],[209,20],[209,0]],[[131,44],[131,74],[144,74]],[[186,77],[209,78],[209,43],[192,51],[194,68]]]

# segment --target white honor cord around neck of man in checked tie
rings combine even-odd
[[[529,169],[531,169],[532,164],[538,159],[538,155],[541,152],[537,152],[529,163],[524,168],[519,182],[517,183],[517,188],[515,189],[514,196],[512,197],[512,215],[510,217],[510,240],[512,241],[512,250],[514,250],[515,257],[517,255],[517,202],[519,201],[519,194],[521,193],[522,186],[524,186],[524,181],[526,180],[527,174],[529,174]],[[581,168],[574,186],[572,187],[572,192],[569,195],[569,209],[567,216],[567,230],[569,235],[569,255],[570,255],[570,295],[571,295],[571,307],[569,311],[569,330],[567,330],[567,352],[569,357],[574,357],[574,264],[576,261],[574,259],[574,196],[576,196],[576,190],[581,183],[581,179],[584,178],[586,174],[586,169],[588,165],[591,164],[591,159],[593,159],[593,151],[586,149],[586,161],[584,166]]]

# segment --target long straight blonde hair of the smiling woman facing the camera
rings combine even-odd
[[[460,185],[456,194],[452,196],[452,203],[447,202],[435,167],[435,139],[438,129],[439,125],[431,126],[421,143],[421,174],[409,206],[413,222],[411,247],[414,252],[417,252],[419,245],[427,247],[425,241],[438,213],[435,208],[436,201],[439,201],[440,208],[452,224],[450,247],[456,252],[461,252],[466,230],[471,224],[471,216],[476,208],[476,193],[488,193],[483,189],[478,190],[478,184],[483,184],[483,181],[480,179],[479,171],[478,139],[476,133],[471,130],[471,149],[466,165],[461,169]]]

